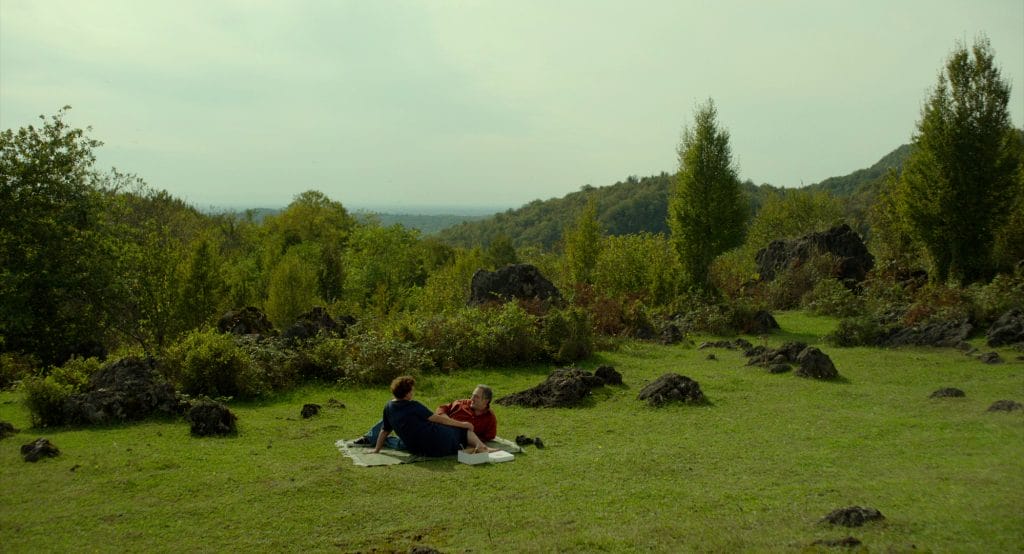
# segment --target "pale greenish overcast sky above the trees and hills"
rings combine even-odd
[[[956,41],[1024,124],[1021,0],[0,0],[0,127],[69,121],[199,207],[518,207],[677,169],[714,98],[743,179],[908,142]]]

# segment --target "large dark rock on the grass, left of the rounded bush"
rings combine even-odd
[[[174,386],[157,371],[154,358],[124,357],[108,364],[89,378],[87,390],[63,403],[71,424],[137,421],[153,415],[181,413]]]

